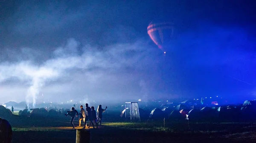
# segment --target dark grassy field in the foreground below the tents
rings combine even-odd
[[[108,116],[105,116],[106,121]],[[75,143],[76,128],[70,118],[9,119],[13,129],[12,143]],[[75,126],[78,121],[74,121]],[[256,140],[256,124],[247,122],[190,122],[122,120],[104,122],[99,129],[89,129],[90,143],[253,143]]]

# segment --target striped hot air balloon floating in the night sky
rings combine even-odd
[[[148,25],[148,35],[152,41],[166,53],[174,34],[174,23],[171,21],[152,21]]]

